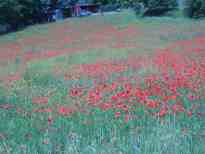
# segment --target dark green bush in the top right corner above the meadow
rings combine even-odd
[[[205,17],[204,0],[186,0],[185,15],[191,18]]]

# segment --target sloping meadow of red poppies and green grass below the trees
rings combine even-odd
[[[0,153],[204,154],[205,21],[130,11],[0,38]]]

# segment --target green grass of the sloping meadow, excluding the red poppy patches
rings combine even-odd
[[[74,18],[58,23],[31,26],[23,31],[2,36],[0,46],[20,43],[23,53],[26,53],[27,49],[38,49],[38,46],[22,44],[22,39],[44,35],[48,40],[52,39],[50,37],[55,35],[50,36],[50,33],[63,25],[65,27],[69,25],[68,28],[87,34],[86,31],[89,28],[84,30],[80,25],[89,22],[101,27],[112,25],[122,29],[130,24],[135,25],[141,34],[139,37],[132,37],[131,41],[139,44],[139,48],[114,49],[110,46],[100,49],[81,48],[75,53],[26,63],[23,78],[13,82],[9,87],[0,82],[0,104],[11,103],[22,109],[17,113],[13,108],[9,110],[0,108],[0,153],[204,154],[205,139],[202,134],[205,133],[205,120],[200,118],[188,119],[180,115],[156,119],[147,116],[142,110],[133,111],[132,115],[136,118],[125,123],[122,117],[116,120],[113,111],[102,112],[89,106],[85,106],[87,114],[75,113],[71,117],[57,116],[57,113],[31,112],[37,107],[32,104],[32,97],[47,95],[50,91],[54,91],[54,94],[49,98],[48,106],[55,109],[56,102],[64,105],[73,103],[65,97],[70,86],[76,82],[63,80],[63,74],[61,74],[69,72],[73,65],[152,54],[155,49],[166,47],[173,41],[189,39],[198,33],[203,33],[205,28],[203,20],[141,19],[136,18],[130,11],[123,11],[102,17]],[[89,30],[92,31],[92,28],[90,27]],[[86,35],[82,35],[83,37]],[[81,46],[83,41],[79,41],[80,43],[74,46]],[[58,43],[42,43],[43,47],[40,49],[42,51],[58,46]],[[18,64],[10,62],[9,65],[0,66],[0,75],[6,76],[21,70],[24,65],[21,60],[20,57]],[[53,74],[55,66],[60,71],[59,76]],[[141,74],[143,73],[146,71],[142,70]],[[82,82],[90,82],[90,80],[82,78]],[[51,126],[47,124],[50,114],[55,118]],[[183,129],[186,131],[184,132]]]

